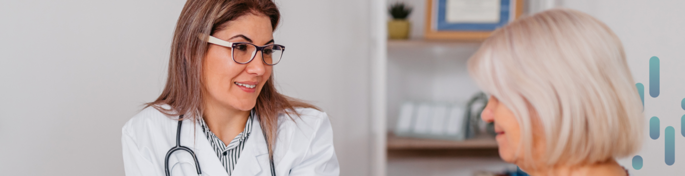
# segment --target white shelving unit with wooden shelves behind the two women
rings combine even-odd
[[[371,3],[372,175],[473,176],[475,171],[516,169],[499,158],[492,138],[445,141],[390,133],[406,101],[459,104],[480,91],[469,77],[466,61],[481,42],[417,39],[425,38],[424,0],[404,1],[414,7],[409,20],[411,30],[419,35],[411,34],[414,39],[410,40],[387,40],[387,8],[394,2]],[[552,0],[530,1],[523,13],[540,12],[553,4]]]

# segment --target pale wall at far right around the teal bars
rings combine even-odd
[[[685,171],[685,137],[680,134],[680,118],[685,110],[685,1],[566,0],[560,4],[595,16],[621,38],[635,81],[645,85],[645,144],[636,153],[643,168],[632,168],[632,156],[620,163],[632,175],[682,175]],[[660,95],[649,96],[649,58],[660,58]],[[660,138],[649,138],[649,118],[660,118]],[[675,128],[675,164],[664,162],[664,129]]]

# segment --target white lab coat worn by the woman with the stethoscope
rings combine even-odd
[[[274,149],[275,173],[284,175],[339,175],[338,158],[333,147],[333,131],[328,116],[311,108],[298,108],[301,114],[280,114]],[[121,129],[121,143],[126,175],[164,175],[164,157],[176,144],[177,117],[169,117],[154,108],[145,108]],[[232,176],[271,175],[266,140],[253,118],[252,131],[238,158]],[[197,155],[202,175],[228,175],[216,156],[199,123],[184,120],[181,145]],[[171,175],[197,175],[195,162],[186,151],[175,151],[169,158]]]

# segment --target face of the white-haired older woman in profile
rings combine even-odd
[[[532,112],[529,110],[529,112]],[[531,113],[535,116],[534,113]],[[519,150],[521,147],[521,128],[519,122],[516,121],[514,113],[507,108],[506,105],[500,103],[497,98],[490,96],[488,105],[483,110],[481,115],[483,121],[494,122],[495,132],[497,133],[497,145],[499,146],[499,156],[502,160],[514,164],[523,164],[523,154],[525,150]],[[531,118],[532,124],[537,124],[537,117]],[[540,158],[544,153],[544,133],[540,129],[540,125],[532,125],[533,131],[533,158]]]

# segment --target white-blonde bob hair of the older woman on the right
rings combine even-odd
[[[643,106],[623,46],[588,14],[553,9],[521,18],[493,32],[468,64],[516,116],[527,154],[531,118],[539,119],[547,141],[540,159],[549,165],[604,162],[641,147]]]

